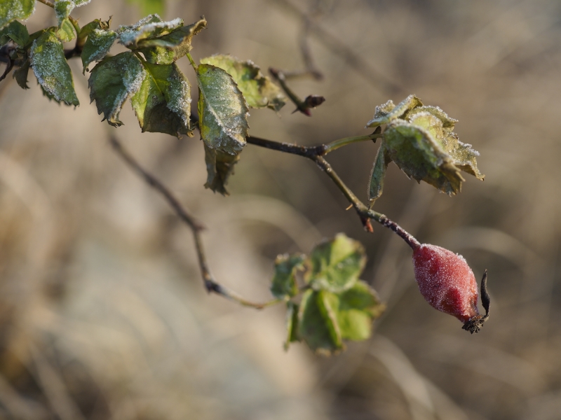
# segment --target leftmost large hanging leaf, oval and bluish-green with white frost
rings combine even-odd
[[[33,41],[29,59],[33,72],[43,89],[57,102],[78,106],[72,72],[65,58],[62,42],[51,32],[44,32]]]

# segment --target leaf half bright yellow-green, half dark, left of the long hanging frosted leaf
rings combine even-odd
[[[144,80],[130,98],[142,132],[181,137],[191,126],[191,86],[175,64],[158,66],[142,62]]]

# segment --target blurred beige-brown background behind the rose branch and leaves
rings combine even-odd
[[[377,211],[419,241],[489,270],[492,316],[477,335],[435,311],[414,283],[411,250],[363,231],[309,160],[247,146],[230,197],[205,190],[198,134],[142,134],[130,106],[116,129],[89,105],[58,106],[0,83],[0,419],[561,419],[561,3],[555,0],[94,0],[73,15],[131,24],[142,7],[208,29],[200,59],[230,53],[327,101],[313,118],[287,104],[252,110],[250,133],[299,144],[368,134],[374,106],[417,94],[459,120],[480,151],[480,182],[456,197],[395,165]],[[29,31],[53,25],[37,3]],[[307,22],[307,23],[306,23]],[[307,29],[306,29],[307,28]],[[119,51],[116,45],[114,51]],[[187,59],[179,62],[195,82]],[[195,90],[196,91],[196,90]],[[196,99],[196,92],[194,92]],[[217,280],[269,300],[278,253],[337,232],[360,240],[363,279],[388,304],[367,342],[332,358],[283,351],[283,307],[207,295],[191,232],[109,146],[126,145],[207,225]],[[329,155],[366,200],[377,144]]]

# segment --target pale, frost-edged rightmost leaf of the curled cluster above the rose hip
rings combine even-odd
[[[409,117],[411,123],[431,133],[433,139],[442,147],[442,150],[450,155],[455,166],[475,176],[477,179],[484,179],[485,175],[479,172],[476,161],[476,158],[479,156],[478,151],[474,151],[471,148],[471,144],[459,141],[457,134],[452,132],[457,120],[448,117],[440,108],[421,108],[430,108],[430,110],[412,114]]]

